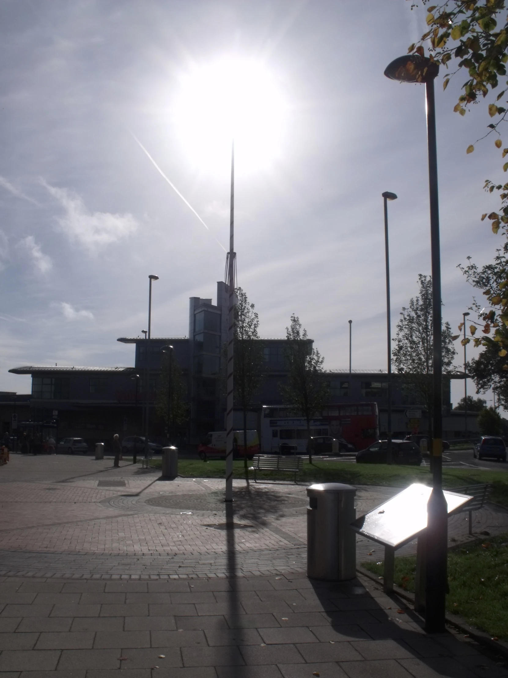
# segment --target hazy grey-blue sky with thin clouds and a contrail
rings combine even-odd
[[[389,203],[393,334],[418,274],[430,273],[425,87],[383,76],[425,32],[425,10],[410,7],[3,0],[0,390],[30,391],[29,377],[8,373],[19,365],[133,365],[133,346],[117,338],[146,330],[150,274],[159,276],[152,336],[187,334],[190,296],[215,301],[230,146],[206,103],[182,116],[182,92],[195,73],[213,82],[207,69],[221,63],[256,64],[278,102],[270,112],[257,98],[264,117],[249,124],[264,126],[250,146],[244,130],[235,148],[238,284],[261,336],[283,338],[295,313],[324,367],[347,369],[352,319],[353,368],[385,368],[383,191],[398,195]],[[460,117],[460,76],[446,92],[440,82],[443,317],[455,328],[474,294],[458,264],[486,264],[502,245],[480,216],[497,207],[484,180],[503,172],[490,138],[465,153],[486,132],[485,106]],[[196,152],[203,130],[215,142],[207,157]],[[462,395],[454,382],[452,401]]]

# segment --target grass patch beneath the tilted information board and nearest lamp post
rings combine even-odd
[[[383,565],[362,563],[383,575]],[[395,559],[394,582],[415,591],[416,557]],[[448,612],[458,614],[492,637],[508,639],[508,534],[455,546],[448,551]]]

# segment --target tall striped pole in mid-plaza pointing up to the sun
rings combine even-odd
[[[228,396],[226,403],[226,502],[233,500],[233,339],[234,339],[234,140],[231,145],[230,252],[228,260]]]

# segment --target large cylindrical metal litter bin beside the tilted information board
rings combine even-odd
[[[307,488],[307,575],[329,582],[356,577],[356,487],[319,483]]]

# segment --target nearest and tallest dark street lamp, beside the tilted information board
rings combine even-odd
[[[420,56],[419,54],[400,56],[392,61],[385,70],[385,76],[391,80],[407,83],[425,83],[427,98],[433,340],[432,492],[427,504],[428,548],[425,563],[425,630],[427,633],[441,633],[444,631],[448,546],[448,509],[442,490],[441,264],[436,106],[434,102],[434,78],[438,75],[438,71],[438,64],[428,57]]]

